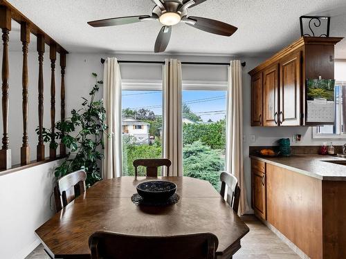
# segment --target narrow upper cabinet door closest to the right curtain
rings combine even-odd
[[[251,77],[251,126],[262,126],[263,81],[262,72]]]

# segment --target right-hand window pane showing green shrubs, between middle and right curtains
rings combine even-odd
[[[216,90],[183,90],[183,173],[215,189],[225,166],[226,87],[225,82]]]

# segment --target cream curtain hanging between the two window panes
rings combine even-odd
[[[163,74],[163,157],[172,161],[170,176],[183,176],[181,62],[165,59]],[[163,169],[163,175],[167,170]]]

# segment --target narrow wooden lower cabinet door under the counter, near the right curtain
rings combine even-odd
[[[266,174],[252,170],[253,210],[255,215],[266,220]]]

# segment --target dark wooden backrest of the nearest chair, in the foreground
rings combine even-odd
[[[218,244],[212,233],[150,237],[100,231],[89,238],[91,259],[214,259]]]

